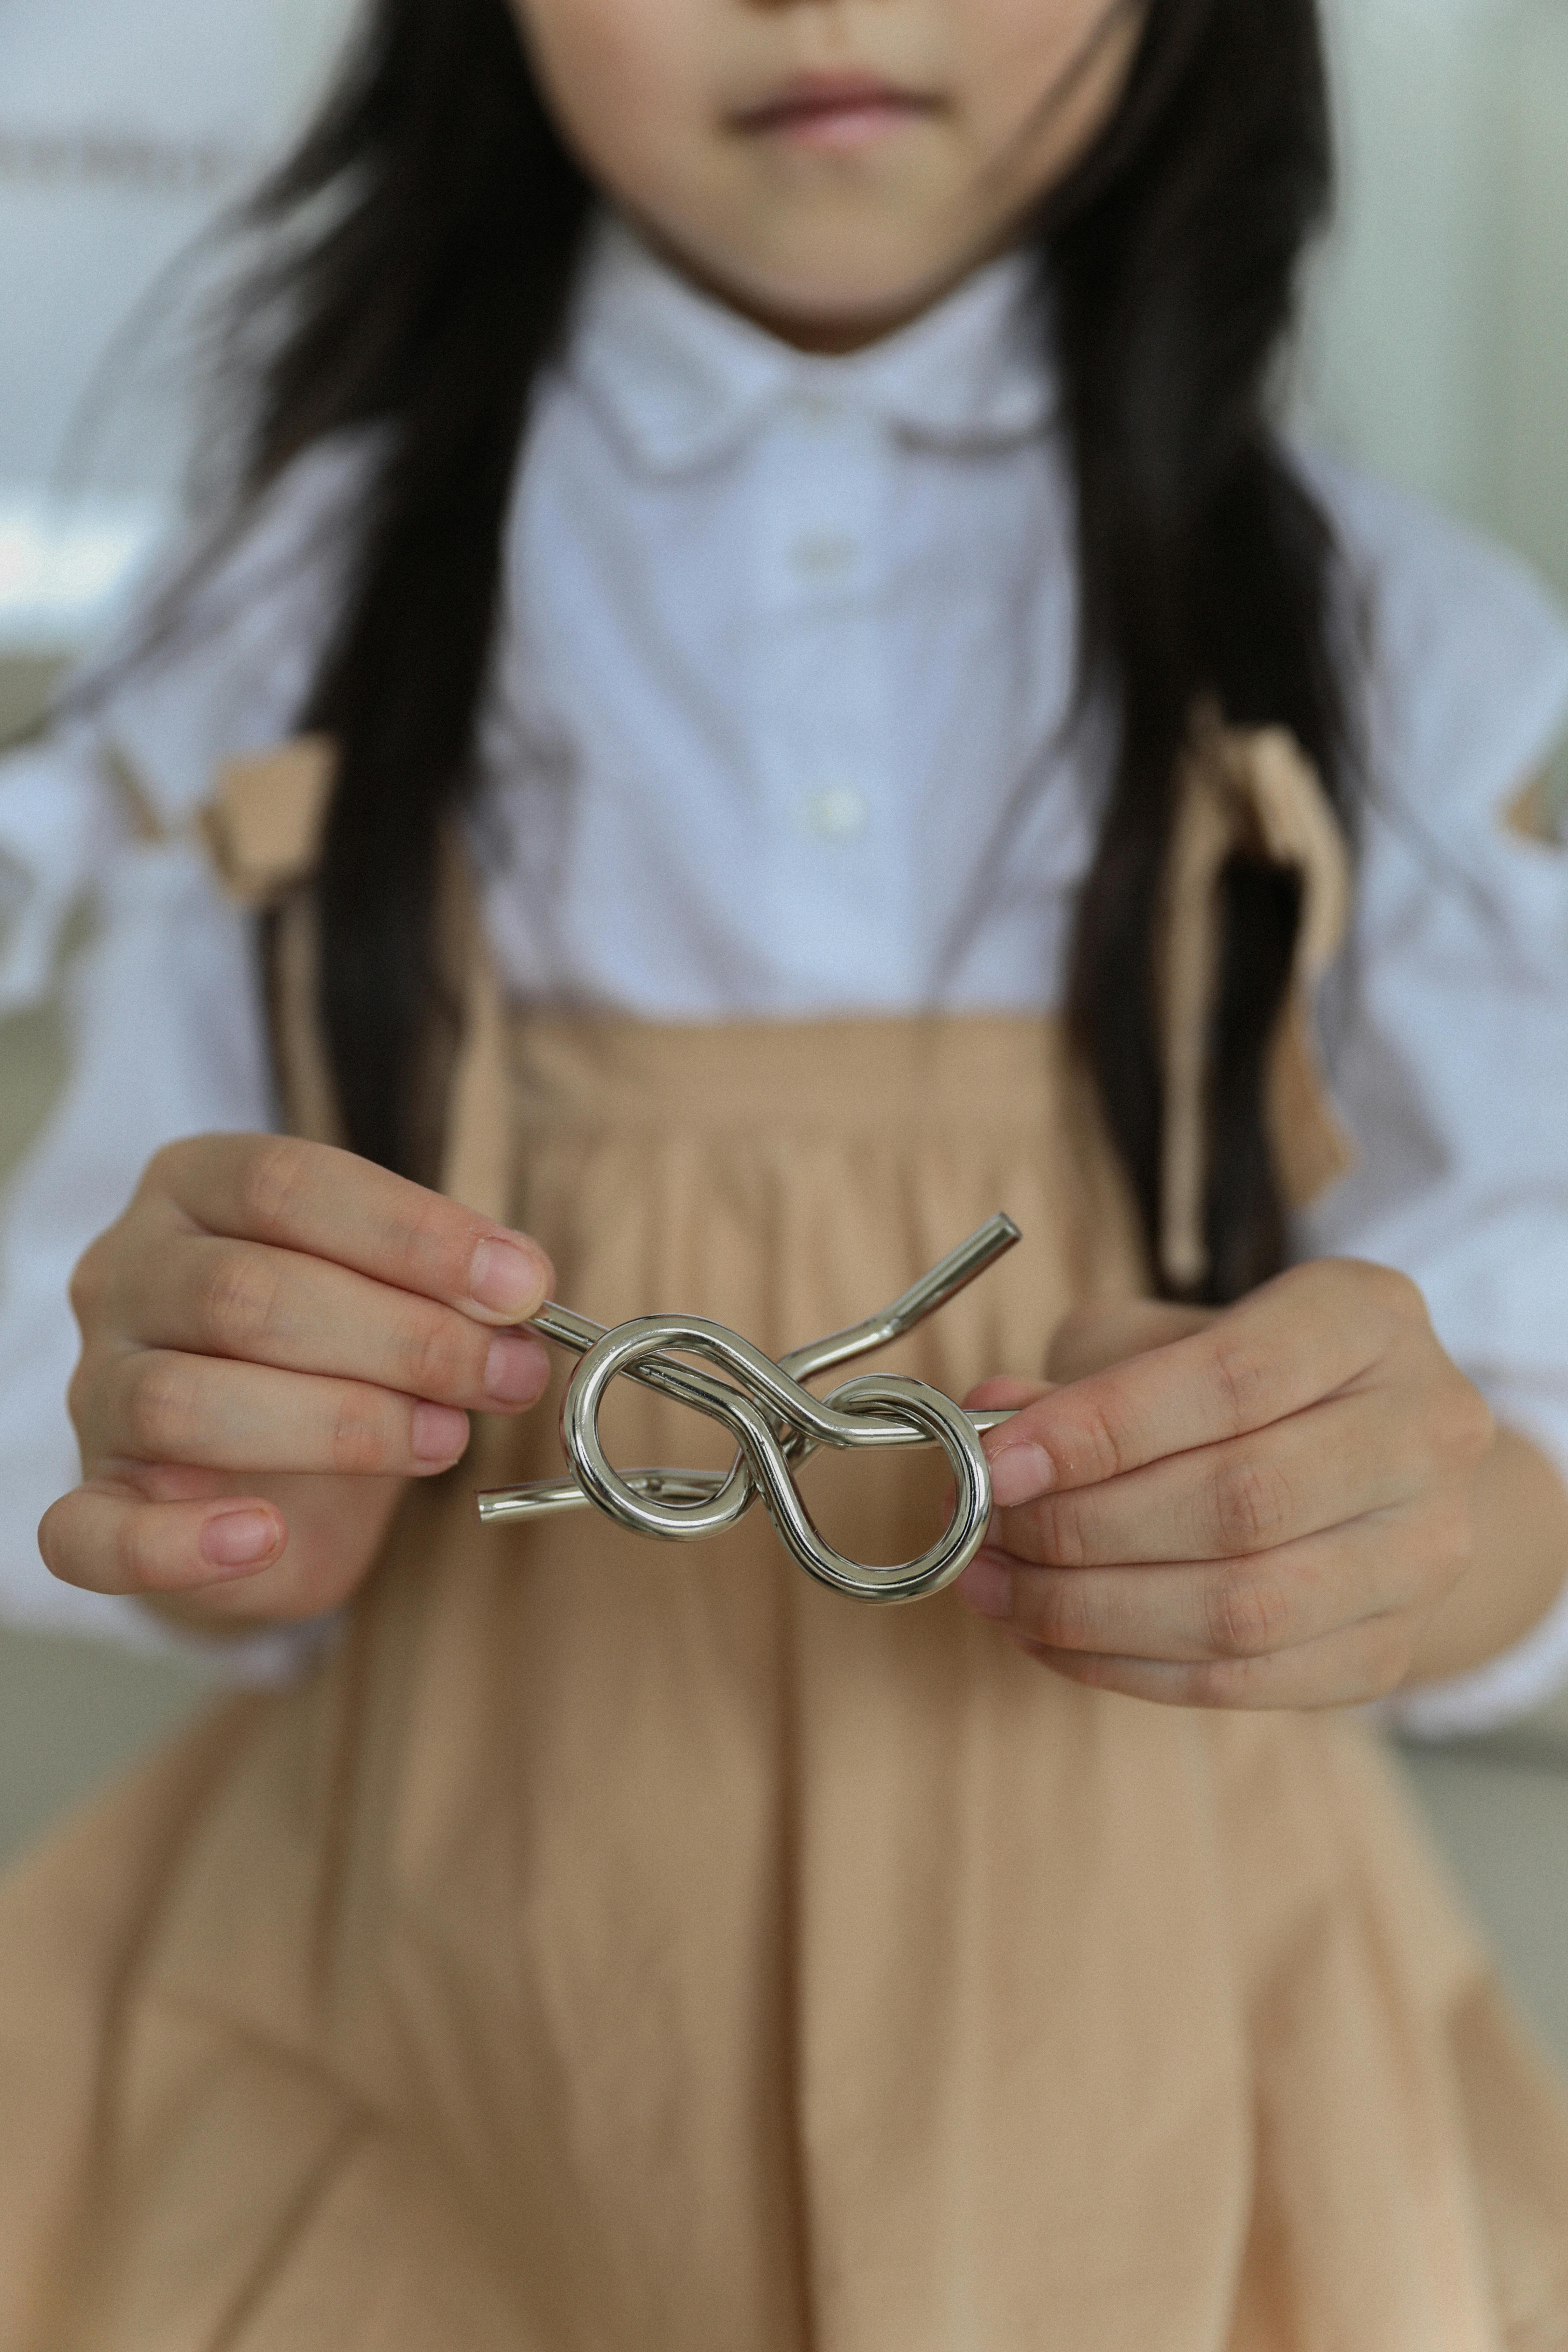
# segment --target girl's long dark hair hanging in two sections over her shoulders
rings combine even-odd
[[[1194,708],[1208,696],[1234,724],[1291,727],[1347,793],[1333,543],[1267,414],[1328,183],[1316,0],[1150,0],[1117,118],[1034,228],[1077,461],[1084,691],[1119,729],[1072,1018],[1150,1235],[1152,941]],[[508,0],[378,0],[254,207],[277,252],[247,289],[270,334],[247,496],[324,433],[386,428],[301,724],[341,755],[320,875],[327,1044],[353,1145],[390,1167],[414,1152],[437,837],[475,779],[529,390],[562,336],[592,202]],[[1284,1256],[1262,1061],[1298,894],[1232,861],[1225,913],[1213,1298]]]

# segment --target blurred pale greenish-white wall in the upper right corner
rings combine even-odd
[[[1312,428],[1568,593],[1568,0],[1326,0],[1342,221]]]

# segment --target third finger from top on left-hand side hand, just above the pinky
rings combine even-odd
[[[468,1416],[449,1404],[165,1348],[118,1357],[96,1406],[101,1458],[127,1463],[430,1477],[468,1446]]]

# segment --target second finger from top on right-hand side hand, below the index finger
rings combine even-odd
[[[1413,1503],[1420,1421],[1382,1395],[1333,1397],[1253,1437],[997,1512],[997,1548],[1039,1566],[1241,1559]]]

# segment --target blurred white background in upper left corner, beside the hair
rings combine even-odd
[[[12,727],[174,515],[202,230],[303,120],[346,19],[343,0],[0,0]]]

